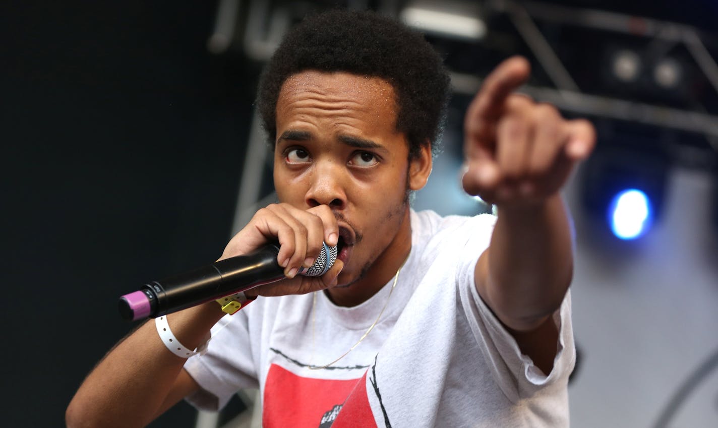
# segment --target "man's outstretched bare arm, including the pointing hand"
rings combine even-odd
[[[592,126],[513,93],[528,63],[510,58],[489,75],[467,111],[463,185],[498,207],[489,248],[475,268],[477,292],[523,353],[551,371],[553,314],[572,278],[572,225],[559,194],[595,144]]]

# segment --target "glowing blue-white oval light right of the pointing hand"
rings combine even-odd
[[[613,197],[608,210],[611,231],[620,239],[635,239],[651,228],[651,200],[638,189],[628,189]]]

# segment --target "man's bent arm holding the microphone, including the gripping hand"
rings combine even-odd
[[[335,284],[342,262],[337,261],[321,277],[294,277],[294,272],[299,266],[311,266],[322,240],[335,245],[337,235],[336,219],[326,205],[298,210],[273,204],[259,210],[232,238],[222,259],[248,253],[276,239],[280,243],[278,262],[284,266],[285,275],[292,278],[256,287],[247,294],[312,292]],[[194,349],[208,338],[210,328],[223,315],[216,302],[208,302],[169,314],[167,321],[177,340]],[[185,361],[165,347],[153,320],[145,322],[118,343],[85,378],[67,407],[67,427],[146,426],[199,389],[182,368]]]

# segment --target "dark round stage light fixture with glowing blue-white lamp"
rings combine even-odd
[[[661,216],[668,170],[658,144],[598,149],[582,168],[584,209],[616,238],[641,238]]]

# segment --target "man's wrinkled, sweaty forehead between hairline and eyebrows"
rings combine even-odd
[[[396,93],[391,83],[382,78],[346,72],[304,70],[289,76],[279,91],[276,114],[289,113],[292,108],[313,102],[329,109],[355,108],[376,119],[396,121]],[[389,117],[387,117],[387,115]]]

